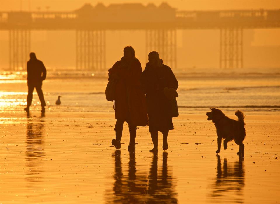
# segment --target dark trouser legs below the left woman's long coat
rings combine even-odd
[[[128,129],[129,129],[129,144],[135,145],[135,138],[136,138],[136,126],[132,125],[129,121],[126,121],[128,123]],[[123,133],[123,126],[124,126],[124,120],[117,119],[116,125],[115,125],[115,131],[116,131],[116,140],[121,141],[121,136]]]

